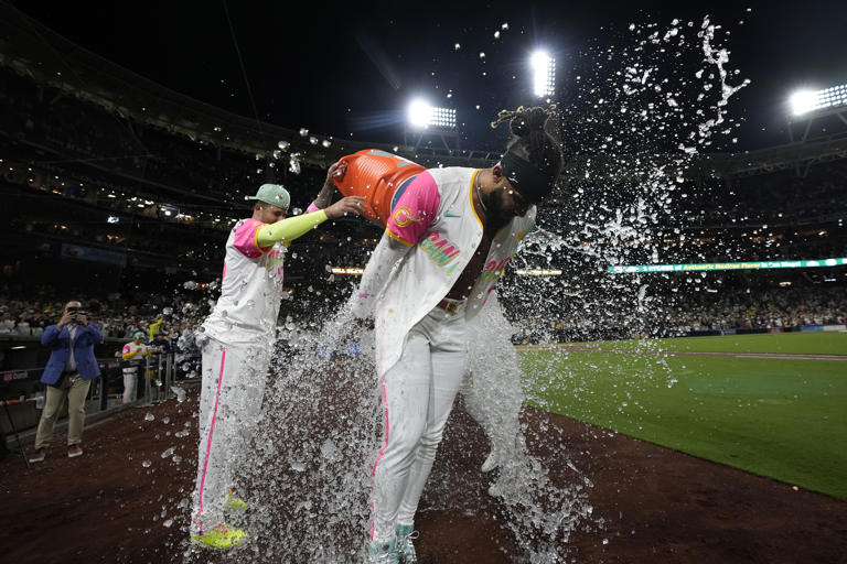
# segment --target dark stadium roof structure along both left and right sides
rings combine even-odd
[[[497,152],[447,145],[389,145],[302,134],[300,130],[239,116],[171,90],[79,47],[8,2],[0,2],[0,65],[124,119],[211,145],[267,158],[271,156],[279,141],[286,141],[288,151],[300,153],[304,164],[321,167],[344,154],[374,148],[400,154],[425,166],[487,167],[501,156]],[[310,138],[330,141],[329,147],[310,141]],[[815,163],[847,159],[847,134],[803,139],[738,154],[577,155],[568,163],[562,176],[637,180],[647,169],[645,159],[662,164],[676,163],[689,178],[733,178],[786,169],[795,169],[802,175],[804,169],[807,171]]]

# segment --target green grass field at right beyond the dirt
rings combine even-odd
[[[847,334],[593,345],[522,355],[536,404],[847,500],[847,361],[662,354],[847,355]]]

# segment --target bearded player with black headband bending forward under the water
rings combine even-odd
[[[503,111],[516,135],[486,170],[430,169],[399,195],[354,314],[373,317],[385,436],[373,468],[368,562],[415,562],[420,495],[467,370],[465,324],[485,304],[561,170],[550,110]]]

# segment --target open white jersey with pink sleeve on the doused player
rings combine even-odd
[[[473,207],[478,170],[431,169],[420,174],[394,207],[386,232],[414,246],[385,286],[375,307],[377,373],[400,358],[409,329],[448,294],[482,241]],[[474,283],[465,316],[470,319],[494,290],[521,239],[535,223],[535,206],[494,237]]]

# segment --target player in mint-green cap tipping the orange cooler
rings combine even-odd
[[[337,165],[330,169],[330,176]],[[232,496],[233,469],[246,454],[261,408],[265,378],[282,297],[283,258],[288,246],[326,219],[358,214],[361,197],[345,197],[326,209],[286,219],[290,195],[262,184],[249,199],[253,217],[229,232],[221,297],[203,323],[200,444],[191,540],[230,549],[245,532],[229,527],[224,510],[246,503]]]

